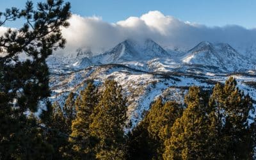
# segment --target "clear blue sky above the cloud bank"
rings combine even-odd
[[[11,6],[20,8],[25,3],[26,0],[1,0],[0,10]],[[83,17],[97,15],[106,22],[117,22],[131,16],[140,17],[150,10],[159,10],[164,15],[207,26],[237,24],[245,28],[256,28],[255,0],[70,0],[70,3],[72,13]]]

